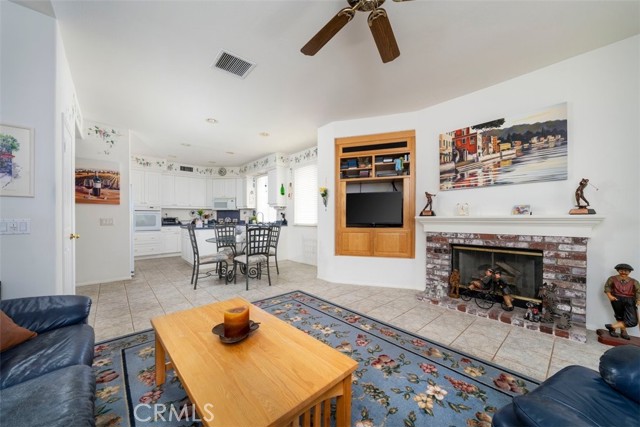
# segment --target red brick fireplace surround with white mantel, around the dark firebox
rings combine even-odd
[[[587,243],[602,217],[418,217],[426,232],[426,286],[418,299],[557,337],[586,342]],[[458,231],[454,231],[458,230]],[[475,231],[471,231],[475,230]],[[564,234],[566,235],[564,235]],[[451,245],[537,249],[543,252],[543,280],[557,286],[559,310],[570,313],[571,328],[530,322],[525,310],[482,309],[473,301],[448,297]]]

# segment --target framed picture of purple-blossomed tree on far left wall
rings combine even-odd
[[[34,196],[33,132],[0,125],[0,196]]]

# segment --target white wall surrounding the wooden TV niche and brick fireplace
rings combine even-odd
[[[437,192],[438,135],[473,123],[510,117],[567,102],[569,174],[566,181],[438,192],[434,210],[453,215],[457,203],[472,215],[508,214],[530,204],[534,214],[567,214],[581,178],[585,195],[606,216],[589,242],[587,327],[613,320],[602,293],[613,266],[627,262],[640,271],[640,36],[588,52],[501,84],[424,110],[395,116],[334,122],[318,131],[319,182],[334,187],[334,139],[416,130],[416,214],[424,192]],[[332,282],[424,289],[425,235],[416,227],[415,260],[334,256],[333,200],[318,227],[318,276]],[[637,274],[636,274],[637,276]],[[632,332],[638,334],[634,329]]]

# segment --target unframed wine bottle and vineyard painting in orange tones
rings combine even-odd
[[[117,162],[76,159],[76,203],[120,204],[120,168]]]

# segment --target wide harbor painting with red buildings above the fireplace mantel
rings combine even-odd
[[[440,190],[567,179],[567,104],[440,134]]]

